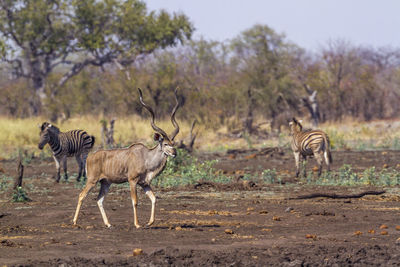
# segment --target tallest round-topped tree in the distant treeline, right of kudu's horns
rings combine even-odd
[[[288,75],[295,49],[283,35],[265,25],[255,25],[232,41],[232,62],[247,99],[243,107],[247,132],[253,131],[254,110],[263,110],[262,114],[274,121],[288,107],[296,106],[295,86]]]

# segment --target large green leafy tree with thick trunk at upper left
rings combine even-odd
[[[34,115],[87,66],[130,65],[193,32],[185,15],[147,12],[140,0],[0,0],[0,19],[2,60],[29,80]],[[55,71],[60,78],[47,92]]]

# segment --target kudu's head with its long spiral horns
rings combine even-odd
[[[176,156],[176,149],[175,149],[175,136],[179,133],[179,125],[175,120],[175,113],[179,108],[179,101],[178,101],[178,95],[177,95],[177,89],[175,89],[174,91],[174,95],[175,95],[175,107],[172,110],[171,113],[171,122],[172,125],[174,125],[175,129],[172,132],[172,134],[170,135],[170,137],[165,133],[165,131],[161,128],[159,128],[155,123],[154,123],[154,111],[153,109],[147,105],[146,103],[143,102],[143,95],[142,95],[142,90],[140,90],[140,88],[138,88],[139,91],[139,100],[140,103],[142,104],[142,106],[147,109],[150,114],[151,114],[151,127],[153,128],[154,131],[156,131],[154,133],[154,140],[157,141],[160,144],[160,147],[162,149],[162,151],[164,152],[165,155],[170,156],[170,157],[175,157]]]

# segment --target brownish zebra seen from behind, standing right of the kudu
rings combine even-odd
[[[332,163],[330,151],[330,142],[328,135],[321,130],[304,130],[303,126],[295,118],[289,122],[290,134],[292,135],[291,146],[296,161],[296,177],[300,173],[300,161],[305,160],[307,156],[314,155],[318,163],[318,177],[322,172],[322,162],[325,158],[328,171]],[[303,166],[304,177],[306,168]]]

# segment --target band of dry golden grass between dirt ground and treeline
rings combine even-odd
[[[56,123],[61,131],[83,129],[96,137],[95,147],[101,146],[100,116],[81,116]],[[43,117],[15,119],[0,117],[0,157],[13,158],[19,150],[26,150],[39,155],[37,148],[39,141],[39,128]],[[189,136],[189,122],[179,122],[181,131],[176,139],[187,140]],[[310,123],[303,123],[305,128],[311,128]],[[169,120],[157,122],[167,133],[172,132],[173,126]],[[264,124],[263,130],[270,132],[268,124]],[[319,126],[330,136],[335,149],[369,149],[389,148],[400,149],[400,120],[381,120],[372,122],[358,122],[354,119],[346,119],[342,122],[324,123]],[[206,129],[202,125],[196,125],[195,132],[199,132],[195,147],[202,151],[225,151],[232,148],[288,146],[290,138],[288,129],[283,129],[281,134],[272,134],[268,138],[257,137],[236,138],[229,135],[227,127],[221,126],[217,130]],[[153,129],[149,118],[141,118],[136,115],[118,117],[115,122],[114,139],[119,146],[128,146],[132,143],[142,142],[152,145]],[[187,141],[186,141],[187,142]],[[43,152],[42,152],[43,153]],[[50,149],[46,146],[45,154],[50,155]]]

